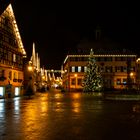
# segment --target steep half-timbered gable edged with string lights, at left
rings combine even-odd
[[[2,30],[1,36],[3,36],[5,41],[10,44],[11,49],[26,57],[26,52],[23,47],[11,4],[9,4],[6,10],[1,14],[0,26]]]

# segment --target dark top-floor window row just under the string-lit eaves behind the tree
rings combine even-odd
[[[70,61],[88,61],[88,57],[70,57]],[[135,57],[95,57],[96,61],[136,61]]]

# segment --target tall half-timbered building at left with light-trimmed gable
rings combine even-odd
[[[0,15],[0,97],[22,94],[24,57],[26,52],[9,4]]]

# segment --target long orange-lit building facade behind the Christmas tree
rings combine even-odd
[[[93,49],[94,51],[94,49]],[[90,50],[88,51],[90,52]],[[98,71],[103,78],[105,89],[125,89],[136,84],[137,56],[126,49],[103,50],[95,49],[94,56]],[[89,55],[78,52],[66,56],[62,65],[62,81],[64,89],[68,91],[81,90],[82,80],[87,70]],[[130,79],[130,82],[128,83]]]

